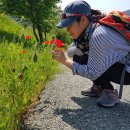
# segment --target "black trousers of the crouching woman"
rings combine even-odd
[[[87,64],[88,55],[83,56],[74,55],[73,61],[79,64]],[[122,71],[124,69],[124,64],[115,63],[108,70],[106,70],[100,77],[93,81],[95,85],[100,85],[103,89],[114,89],[111,82],[120,84]],[[124,84],[130,84],[130,73],[125,73]]]

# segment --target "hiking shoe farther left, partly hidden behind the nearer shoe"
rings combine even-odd
[[[89,97],[99,97],[102,91],[103,89],[101,88],[101,86],[93,85],[88,90],[81,91],[81,95]]]

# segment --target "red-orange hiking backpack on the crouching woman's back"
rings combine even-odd
[[[112,11],[98,22],[118,31],[130,43],[130,16],[124,12]]]

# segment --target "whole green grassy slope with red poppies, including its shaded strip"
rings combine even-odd
[[[36,44],[31,30],[0,14],[0,130],[19,129],[23,113],[58,71],[50,46]]]

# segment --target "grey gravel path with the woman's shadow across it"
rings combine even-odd
[[[63,73],[45,85],[22,130],[130,130],[130,85],[124,86],[120,104],[101,108],[96,98],[80,94],[92,82],[63,68]]]

